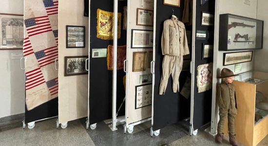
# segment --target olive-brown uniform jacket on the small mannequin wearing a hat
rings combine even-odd
[[[219,108],[237,109],[234,85],[223,82],[217,85],[216,99]]]

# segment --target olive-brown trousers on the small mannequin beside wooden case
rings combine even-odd
[[[225,123],[226,118],[228,118],[229,133],[231,135],[235,135],[234,118],[236,114],[237,114],[237,110],[235,108],[232,108],[232,109],[219,108],[220,120],[219,120],[218,128],[217,128],[218,133],[223,133],[224,123]]]

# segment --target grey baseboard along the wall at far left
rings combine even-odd
[[[0,131],[5,131],[12,128],[22,127],[24,113],[15,114],[0,118]]]

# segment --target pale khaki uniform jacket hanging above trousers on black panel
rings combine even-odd
[[[182,56],[189,54],[185,26],[177,18],[164,21],[161,45],[163,55]]]

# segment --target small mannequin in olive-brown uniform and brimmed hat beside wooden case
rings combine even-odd
[[[216,99],[219,106],[220,120],[217,128],[215,141],[222,143],[224,136],[223,128],[226,117],[228,117],[229,142],[232,146],[238,146],[235,141],[234,118],[237,114],[237,104],[235,98],[233,81],[233,72],[223,68],[219,77],[223,78],[223,82],[217,85]]]

